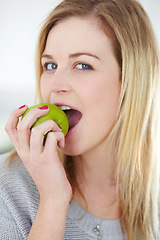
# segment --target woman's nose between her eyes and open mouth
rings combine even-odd
[[[71,91],[69,72],[57,69],[52,76],[51,90],[56,94],[66,94]]]

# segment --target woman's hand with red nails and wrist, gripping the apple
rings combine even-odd
[[[69,204],[72,190],[57,154],[57,146],[65,145],[64,134],[52,120],[31,129],[37,118],[47,114],[49,109],[34,108],[19,122],[26,109],[27,106],[23,106],[12,112],[6,132],[34,180],[41,201]],[[47,139],[43,145],[45,134]]]

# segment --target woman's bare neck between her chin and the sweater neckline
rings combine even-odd
[[[74,157],[77,181],[91,214],[103,219],[117,219],[121,216],[121,208],[114,176],[115,159],[104,152]],[[78,192],[75,199],[82,208],[86,208]]]

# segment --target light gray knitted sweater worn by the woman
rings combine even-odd
[[[39,202],[36,185],[23,163],[14,159],[5,166],[0,155],[0,239],[27,239]],[[85,212],[76,201],[68,208],[65,240],[122,240],[119,220],[102,220]],[[45,239],[44,239],[45,240]]]

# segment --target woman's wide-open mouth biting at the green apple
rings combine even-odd
[[[61,108],[65,114],[67,115],[68,122],[69,122],[69,130],[75,127],[80,119],[82,118],[82,113],[78,110],[71,109],[68,106],[58,106]]]

